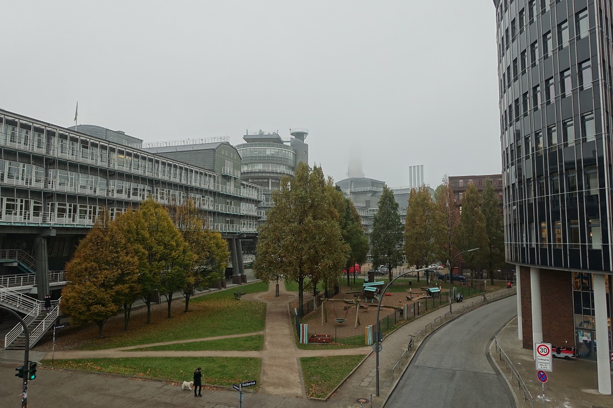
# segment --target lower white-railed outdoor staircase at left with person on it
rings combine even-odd
[[[0,305],[26,315],[23,317],[23,321],[28,327],[30,348],[47,333],[47,330],[53,327],[53,324],[58,319],[60,302],[61,298],[51,301],[51,310],[47,313],[44,302],[32,299],[6,286],[0,286]],[[25,333],[21,324],[17,324],[4,336],[4,348],[25,349]]]

